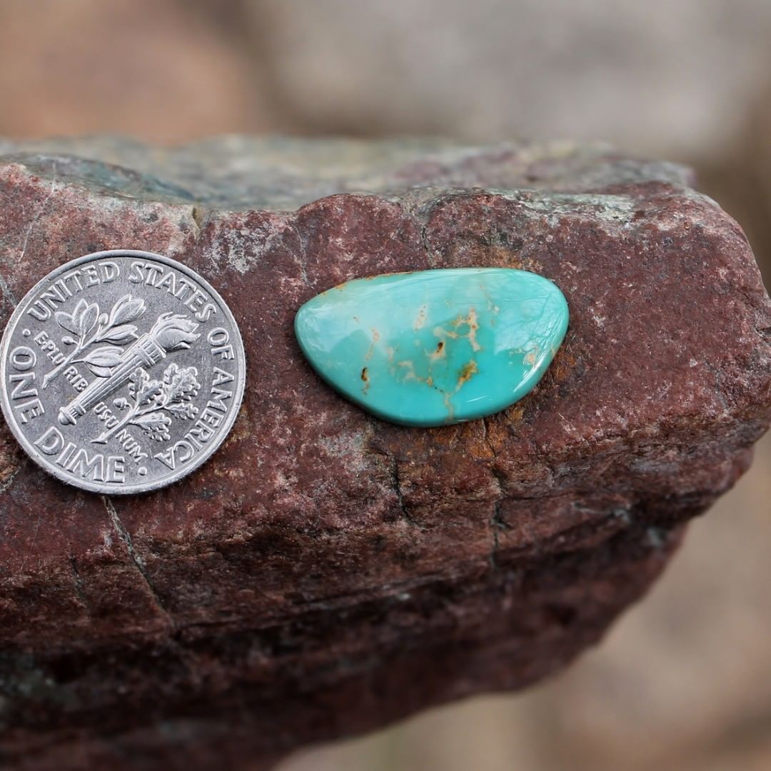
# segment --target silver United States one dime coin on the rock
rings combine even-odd
[[[0,403],[43,469],[96,493],[180,480],[223,443],[244,394],[244,344],[186,265],[101,251],[61,265],[16,307]]]

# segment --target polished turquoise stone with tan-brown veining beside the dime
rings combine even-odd
[[[460,423],[517,402],[566,330],[562,292],[512,268],[359,278],[316,295],[295,317],[300,347],[329,385],[407,426]]]

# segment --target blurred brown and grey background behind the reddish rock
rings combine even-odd
[[[695,167],[769,281],[769,40],[769,0],[0,0],[0,136],[604,139]],[[279,768],[771,768],[769,472],[569,672]]]

